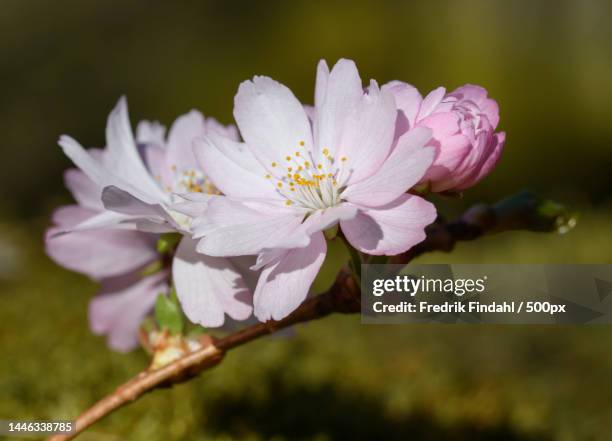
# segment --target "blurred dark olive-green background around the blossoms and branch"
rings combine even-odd
[[[578,213],[566,235],[508,233],[420,262],[612,263],[612,3],[602,1],[3,0],[0,14],[0,418],[71,418],[147,364],[86,320],[96,286],[42,234],[68,203],[56,141],[104,144],[191,108],[232,120],[255,74],[312,102],[316,63],[364,80],[486,87],[505,153],[452,216],[529,188]],[[612,329],[363,326],[335,317],[262,340],[117,412],[83,440],[608,440]]]

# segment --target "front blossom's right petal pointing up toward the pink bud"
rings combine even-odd
[[[400,137],[382,167],[369,178],[349,185],[342,194],[358,205],[380,207],[398,198],[421,180],[434,159],[435,150],[424,147],[431,130],[416,127]]]

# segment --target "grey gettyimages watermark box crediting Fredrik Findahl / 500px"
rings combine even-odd
[[[612,323],[612,265],[363,265],[362,323]]]

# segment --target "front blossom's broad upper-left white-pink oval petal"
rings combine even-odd
[[[300,147],[312,148],[310,123],[302,104],[282,84],[255,77],[240,85],[234,117],[255,157],[266,167],[284,161]]]

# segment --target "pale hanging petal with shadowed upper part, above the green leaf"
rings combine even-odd
[[[172,263],[176,293],[194,323],[219,327],[225,314],[245,320],[252,312],[253,295],[229,259],[196,252],[196,241],[183,238]]]

